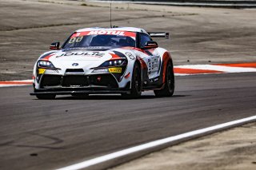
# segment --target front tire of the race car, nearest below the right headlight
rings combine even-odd
[[[138,62],[134,64],[133,76],[131,78],[130,93],[122,93],[122,97],[126,99],[138,98],[142,94],[142,70]]]

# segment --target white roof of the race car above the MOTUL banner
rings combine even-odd
[[[130,31],[130,32],[138,32],[138,33],[146,33],[146,30],[143,30],[141,28],[135,28],[135,27],[114,27],[114,28],[101,28],[101,27],[92,27],[92,28],[84,28],[80,30],[76,30],[75,32],[84,32],[84,31],[94,31],[94,30],[106,30],[106,31],[113,31],[113,30],[121,30],[121,31]]]

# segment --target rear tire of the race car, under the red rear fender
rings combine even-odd
[[[163,89],[154,90],[156,97],[171,97],[174,94],[174,69],[173,66],[168,62],[166,66],[166,81]]]

